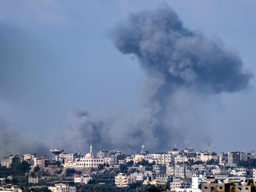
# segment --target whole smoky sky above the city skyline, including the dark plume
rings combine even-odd
[[[187,3],[1,2],[0,156],[255,150],[255,2]]]

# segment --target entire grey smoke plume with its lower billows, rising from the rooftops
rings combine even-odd
[[[108,148],[116,145],[135,152],[144,144],[152,152],[171,150],[176,140],[193,138],[193,147],[206,143],[212,128],[207,121],[213,95],[243,90],[252,78],[242,71],[236,53],[184,28],[165,4],[156,10],[129,13],[109,37],[123,54],[137,56],[148,77],[141,106],[133,115],[120,113],[99,120],[83,110],[71,113],[71,130],[81,134],[84,146],[104,141]]]

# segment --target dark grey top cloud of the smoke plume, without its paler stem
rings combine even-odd
[[[135,54],[141,66],[164,74],[166,83],[197,85],[207,91],[234,92],[247,87],[250,73],[242,61],[213,40],[183,27],[167,5],[129,13],[110,38],[123,54]]]

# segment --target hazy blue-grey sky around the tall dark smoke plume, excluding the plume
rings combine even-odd
[[[77,152],[80,143],[86,154],[91,142],[100,150],[101,140],[105,150],[137,152],[144,140],[124,147],[120,143],[125,136],[120,135],[126,134],[123,126],[140,124],[130,119],[141,114],[147,71],[136,56],[123,55],[115,47],[108,31],[129,12],[154,10],[162,2],[0,1],[0,156],[36,151],[44,155],[57,140],[65,152]],[[185,28],[232,50],[242,59],[243,71],[256,74],[255,1],[166,3]],[[246,89],[233,93],[176,91],[174,104],[168,105],[172,110],[166,112],[172,118],[159,121],[174,131],[158,151],[167,152],[174,144],[182,149],[184,140],[197,151],[206,150],[208,139],[211,150],[219,153],[241,151],[243,146],[255,150],[255,87],[251,78]],[[79,119],[87,117],[87,111],[93,120]],[[120,116],[122,121],[116,121]],[[136,134],[148,136],[143,126],[132,133],[126,142],[134,143]],[[150,152],[158,146],[145,145]]]

